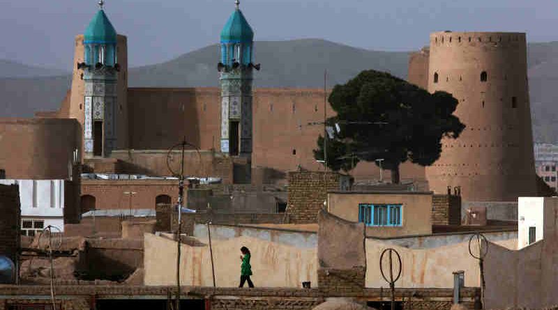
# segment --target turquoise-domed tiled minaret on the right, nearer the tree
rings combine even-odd
[[[252,155],[252,63],[254,31],[236,9],[221,31],[221,152],[231,156]]]

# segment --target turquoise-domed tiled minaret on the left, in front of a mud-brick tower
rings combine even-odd
[[[84,157],[108,157],[116,148],[116,31],[99,1],[84,33]]]

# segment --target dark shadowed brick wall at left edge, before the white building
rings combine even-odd
[[[14,263],[20,247],[20,188],[0,185],[0,255]]]

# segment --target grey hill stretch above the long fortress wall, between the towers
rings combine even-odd
[[[324,69],[329,85],[345,83],[364,69],[389,71],[407,77],[409,53],[377,52],[326,40],[305,39],[256,42],[255,74],[259,87],[323,87]],[[130,86],[217,86],[218,45],[183,54],[172,61],[130,69]]]

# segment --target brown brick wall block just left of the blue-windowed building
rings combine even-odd
[[[293,224],[317,223],[327,192],[340,189],[339,173],[290,171],[287,214]]]

